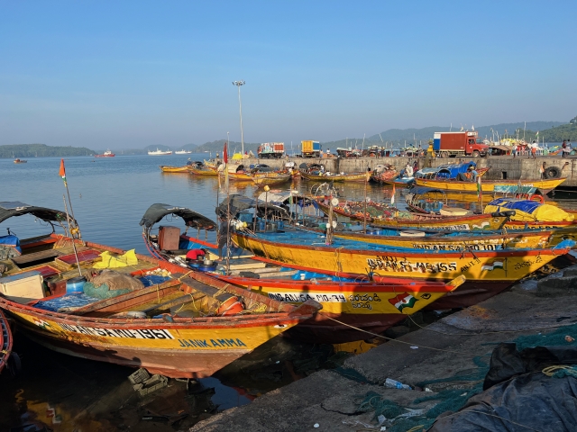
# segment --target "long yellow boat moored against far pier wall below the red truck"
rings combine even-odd
[[[542,193],[548,193],[559,184],[562,184],[565,180],[567,180],[567,177],[549,178],[546,180],[522,180],[520,183],[523,186],[535,187]],[[415,178],[415,182],[418,186],[433,187],[444,191],[477,193],[476,182],[460,182],[453,179],[441,180],[431,178]],[[482,180],[481,190],[483,193],[491,193],[495,189],[495,186],[517,186],[517,184],[519,184],[519,180]]]

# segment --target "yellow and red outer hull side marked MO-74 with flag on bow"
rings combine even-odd
[[[283,336],[333,344],[366,338],[366,333],[349,326],[376,333],[389,329],[398,321],[405,320],[407,315],[451,293],[459,284],[463,284],[464,279],[453,284],[439,284],[392,278],[386,283],[351,283],[217,277],[279,302],[298,305],[312,299],[321,303],[321,313],[289,329]],[[397,304],[399,294],[405,298],[411,296],[415,302]]]

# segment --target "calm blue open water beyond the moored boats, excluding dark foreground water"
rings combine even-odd
[[[215,176],[166,174],[160,171],[160,165],[186,165],[188,157],[203,160],[206,154],[66,157],[64,163],[72,210],[83,238],[108,246],[135,248],[137,252],[145,254],[139,221],[155,202],[188,207],[214,220],[217,200],[222,201],[225,196],[224,188],[219,192]],[[58,157],[32,157],[26,164],[0,159],[0,201],[21,201],[64,210],[62,195],[66,189],[59,169]],[[312,185],[300,181],[291,187],[310,192]],[[285,187],[288,188],[289,184]],[[362,200],[364,197],[363,184],[335,184],[335,187],[348,198]],[[257,196],[260,193],[257,191],[252,184],[231,183],[230,187],[230,193],[249,196]],[[390,190],[386,193],[390,196]],[[374,200],[382,200],[383,187],[370,185],[367,195]],[[163,220],[162,223],[184,229],[181,220]],[[32,216],[12,218],[0,225],[0,235],[10,228],[20,238],[32,237],[40,233],[39,225],[40,222],[35,222]]]

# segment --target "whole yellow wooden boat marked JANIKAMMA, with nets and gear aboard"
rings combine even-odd
[[[23,214],[63,229],[67,220],[61,211],[0,202],[0,222]],[[194,216],[183,217],[195,226]],[[0,308],[30,338],[70,356],[175,378],[204,377],[320,308],[312,301],[295,308],[156,258],[78,238],[13,237],[14,247],[1,245]],[[144,284],[152,276],[160,280]],[[106,282],[97,286],[99,277]]]

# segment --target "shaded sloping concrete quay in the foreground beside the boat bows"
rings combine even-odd
[[[538,335],[554,331],[562,333],[561,342],[555,345],[576,344],[577,341],[565,342],[563,336],[563,327],[574,325],[575,320],[577,266],[572,266],[538,282],[517,284],[486,302],[351,357],[344,364],[344,374],[332,370],[311,374],[249,405],[225,410],[197,423],[190,431],[384,430],[373,419],[374,411],[358,412],[367,392],[427,412],[438,401],[413,401],[447,388],[466,392],[471,383],[451,382],[451,378],[466,371],[479,371],[475,357],[489,364],[490,353],[500,342],[528,335],[541,338]],[[577,339],[574,331],[567,334]],[[359,382],[359,376],[364,383]],[[429,383],[426,388],[432,392],[424,392],[387,389],[383,386],[387,378],[411,386],[446,381]]]

